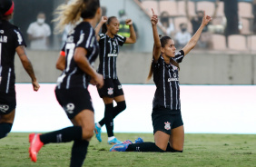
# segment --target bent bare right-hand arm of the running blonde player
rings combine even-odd
[[[74,51],[74,62],[85,73],[92,77],[91,83],[97,85],[99,88],[103,87],[103,75],[98,74],[86,58],[87,50],[84,47],[77,47]]]

